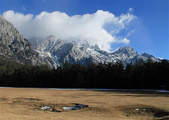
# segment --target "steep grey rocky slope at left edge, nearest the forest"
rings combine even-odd
[[[41,65],[43,60],[18,30],[0,16],[0,55],[22,64]]]

